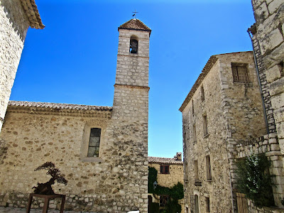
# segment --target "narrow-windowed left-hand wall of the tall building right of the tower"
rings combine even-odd
[[[230,212],[231,190],[229,163],[226,152],[226,126],[222,109],[219,60],[212,66],[197,87],[187,107],[182,111],[183,153],[185,166],[185,207],[195,210],[194,196],[199,197],[200,212],[206,212],[206,197],[209,197],[210,211]],[[201,86],[204,88],[204,102],[201,99]],[[192,100],[194,114],[192,114]],[[204,136],[202,116],[207,115],[208,135]],[[196,138],[193,138],[193,125]],[[211,159],[212,180],[207,180],[205,157]],[[198,165],[198,180],[195,179],[194,160]]]

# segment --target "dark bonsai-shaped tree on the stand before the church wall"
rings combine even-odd
[[[53,192],[53,185],[56,182],[60,182],[64,185],[67,185],[67,180],[64,178],[64,175],[60,173],[60,170],[58,168],[55,168],[54,163],[52,162],[46,162],[43,163],[43,165],[40,165],[38,168],[35,168],[35,171],[38,170],[48,170],[46,173],[47,175],[50,175],[51,178],[48,180],[48,182],[45,183],[39,183],[38,185],[33,187],[33,192],[35,194],[40,194],[40,195],[54,195],[55,193]]]

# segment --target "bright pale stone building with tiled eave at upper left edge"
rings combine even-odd
[[[44,28],[34,0],[0,1],[0,132],[29,26]]]

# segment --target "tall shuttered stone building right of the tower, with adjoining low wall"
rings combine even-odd
[[[185,212],[236,210],[235,160],[244,144],[268,151],[271,173],[282,188],[282,156],[275,133],[269,133],[252,52],[213,55],[193,85],[182,112]],[[268,134],[269,133],[269,134]],[[266,138],[266,143],[256,138]],[[258,141],[258,142],[256,142]],[[258,143],[258,146],[256,146]],[[279,190],[273,189],[279,205]]]

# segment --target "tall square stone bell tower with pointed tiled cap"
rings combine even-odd
[[[119,26],[109,143],[119,147],[121,212],[148,208],[148,68],[151,29],[133,18]],[[122,191],[122,192],[121,192]]]

